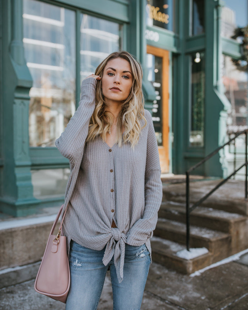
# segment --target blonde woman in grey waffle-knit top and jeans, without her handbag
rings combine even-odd
[[[67,310],[96,309],[108,269],[114,310],[141,306],[162,200],[142,75],[128,52],[110,54],[82,82],[79,107],[55,142],[71,169],[63,224],[71,271]]]

